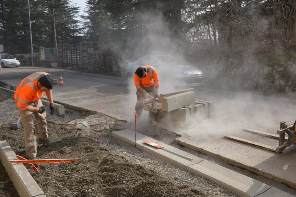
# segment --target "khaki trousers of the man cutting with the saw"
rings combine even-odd
[[[143,89],[150,96],[155,97],[155,85],[152,85],[150,87],[143,87]],[[137,113],[137,118],[140,118],[144,108],[143,99],[145,97],[144,97],[144,94],[139,89],[137,89],[136,95],[137,95],[136,113]],[[156,113],[154,113],[153,111],[149,111],[149,120],[155,120],[155,116],[156,116]]]

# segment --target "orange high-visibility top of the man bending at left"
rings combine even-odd
[[[45,72],[36,72],[27,76],[20,82],[20,85],[18,85],[13,97],[17,102],[19,110],[28,109],[28,104],[30,102],[35,102],[44,95],[44,92],[42,92],[37,85],[41,74],[49,75]]]

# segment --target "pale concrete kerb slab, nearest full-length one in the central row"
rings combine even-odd
[[[187,166],[187,170],[205,177],[243,197],[257,196],[271,188],[270,185],[266,185],[265,183],[207,160]]]

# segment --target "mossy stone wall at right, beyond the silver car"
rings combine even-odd
[[[260,59],[254,54],[215,55],[200,65],[205,84],[224,90],[296,92],[296,57]]]

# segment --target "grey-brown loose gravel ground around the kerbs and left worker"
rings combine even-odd
[[[23,127],[10,130],[19,113],[15,101],[0,89],[0,140],[7,140],[16,154],[26,157],[23,140]],[[47,111],[49,111],[48,106]],[[37,157],[42,158],[80,158],[77,162],[64,164],[43,164],[38,167],[39,174],[28,169],[46,196],[237,196],[231,191],[216,185],[210,180],[196,176],[184,169],[162,161],[141,151],[126,142],[112,137],[111,132],[129,126],[123,121],[101,113],[80,113],[65,108],[65,115],[48,115],[49,136],[57,141],[54,147],[38,145]],[[87,121],[88,131],[71,126],[57,125],[57,122]],[[131,124],[131,123],[130,123]],[[36,127],[36,125],[35,125]],[[173,140],[175,133],[149,124],[139,126],[142,134],[161,140],[169,145],[246,174],[277,188],[286,186],[266,178],[230,166],[226,162],[179,147]],[[4,172],[3,167],[0,171]],[[12,182],[4,172],[0,176],[0,196],[18,196]],[[288,189],[289,190],[289,189]]]

